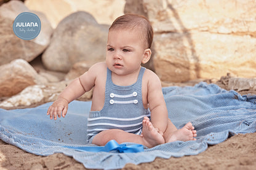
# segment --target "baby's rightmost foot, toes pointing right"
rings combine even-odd
[[[172,135],[166,141],[196,141],[194,137],[196,137],[196,130],[194,130],[192,123],[188,122],[185,126],[183,126],[183,128],[172,133]]]

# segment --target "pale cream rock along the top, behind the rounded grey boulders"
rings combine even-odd
[[[111,1],[51,1],[51,0],[26,0],[25,5],[31,10],[41,11],[49,18],[53,28],[66,16],[85,11],[92,14],[98,23],[111,25],[115,18],[124,14],[125,0]],[[61,6],[61,7],[60,7]]]

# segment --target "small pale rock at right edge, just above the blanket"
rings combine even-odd
[[[228,88],[230,90],[256,90],[256,79],[246,79],[239,77],[231,77],[228,81]]]

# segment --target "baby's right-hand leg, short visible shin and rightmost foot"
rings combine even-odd
[[[169,121],[170,122],[170,121]],[[171,123],[171,122],[170,122]],[[174,142],[174,141],[195,141],[196,139],[196,130],[194,130],[194,126],[192,123],[188,122],[181,129],[171,129],[170,125],[172,123],[168,123],[167,130],[164,133],[164,139],[166,139],[166,143]]]

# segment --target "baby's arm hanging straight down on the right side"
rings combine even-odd
[[[162,133],[166,131],[168,124],[168,111],[164,95],[162,95],[162,85],[158,75],[148,71],[148,104],[151,110],[151,123]]]

